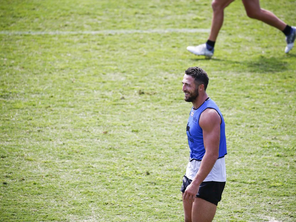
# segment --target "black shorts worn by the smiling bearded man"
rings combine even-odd
[[[191,182],[192,180],[184,176],[183,183],[180,190],[184,193],[186,190],[186,187],[189,186]],[[221,200],[225,183],[226,182],[217,182],[217,181],[202,182],[200,184],[200,189],[198,190],[196,197],[202,198],[210,203],[218,205],[218,202]]]

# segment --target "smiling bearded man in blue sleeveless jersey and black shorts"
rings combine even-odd
[[[185,222],[210,222],[226,182],[226,138],[223,116],[206,93],[209,78],[199,67],[185,71],[184,100],[192,102],[186,132],[189,163],[181,187]]]

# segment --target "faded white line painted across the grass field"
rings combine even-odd
[[[0,31],[0,35],[108,35],[108,34],[134,34],[134,33],[209,33],[210,29],[202,28],[168,28],[168,29],[119,29],[99,31]]]

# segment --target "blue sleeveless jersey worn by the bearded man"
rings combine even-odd
[[[189,161],[198,160],[201,161],[205,155],[205,146],[202,137],[202,128],[199,125],[200,115],[206,109],[214,109],[221,117],[220,124],[220,143],[219,143],[219,156],[218,159],[224,157],[227,154],[226,150],[226,136],[225,136],[225,122],[216,103],[208,98],[205,102],[195,110],[193,107],[190,111],[188,123],[186,127],[186,133],[188,137],[188,144],[190,149]]]

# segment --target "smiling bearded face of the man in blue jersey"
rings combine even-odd
[[[186,102],[193,102],[198,97],[197,86],[194,78],[191,75],[184,75],[182,91],[185,93],[184,100]]]

